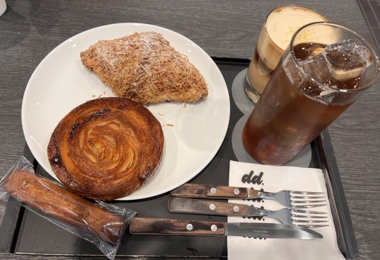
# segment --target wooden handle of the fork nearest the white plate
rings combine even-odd
[[[244,199],[247,198],[247,188],[186,183],[171,191],[170,195],[184,198]]]

